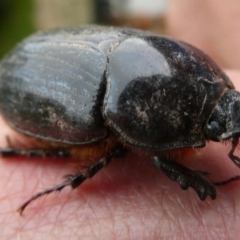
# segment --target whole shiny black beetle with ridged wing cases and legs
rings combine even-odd
[[[27,200],[78,187],[131,149],[148,153],[182,189],[216,198],[214,183],[181,165],[179,153],[240,136],[240,94],[197,48],[130,28],[68,27],[34,34],[0,63],[0,113],[38,149],[3,148],[3,157],[75,157],[88,163]]]

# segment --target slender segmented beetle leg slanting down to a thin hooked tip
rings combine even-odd
[[[123,157],[123,154],[125,152],[126,152],[126,150],[121,145],[115,147],[113,151],[108,153],[105,157],[101,158],[97,163],[90,166],[85,171],[82,171],[82,172],[77,173],[75,175],[71,175],[71,174],[66,175],[65,178],[67,178],[67,180],[65,182],[63,182],[63,183],[61,183],[61,184],[59,184],[59,185],[57,185],[53,188],[46,189],[42,192],[39,192],[39,193],[33,195],[31,198],[29,198],[26,202],[24,202],[20,206],[18,211],[22,215],[24,209],[29,205],[29,203],[31,203],[32,201],[34,201],[35,199],[37,199],[37,198],[39,198],[43,195],[46,195],[46,194],[49,194],[49,193],[52,193],[52,192],[55,192],[55,191],[61,191],[66,186],[71,186],[73,189],[78,187],[86,179],[93,177],[99,170],[101,170],[103,167],[108,165],[113,158]]]

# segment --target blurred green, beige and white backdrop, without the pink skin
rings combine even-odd
[[[168,0],[0,0],[0,58],[32,32],[97,23],[164,31]]]

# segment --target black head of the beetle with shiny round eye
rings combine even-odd
[[[206,125],[207,139],[228,140],[240,136],[240,93],[227,90],[219,99]]]

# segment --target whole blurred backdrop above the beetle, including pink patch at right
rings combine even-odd
[[[0,0],[0,59],[37,30],[96,23],[167,34],[240,69],[239,22],[239,0]]]

